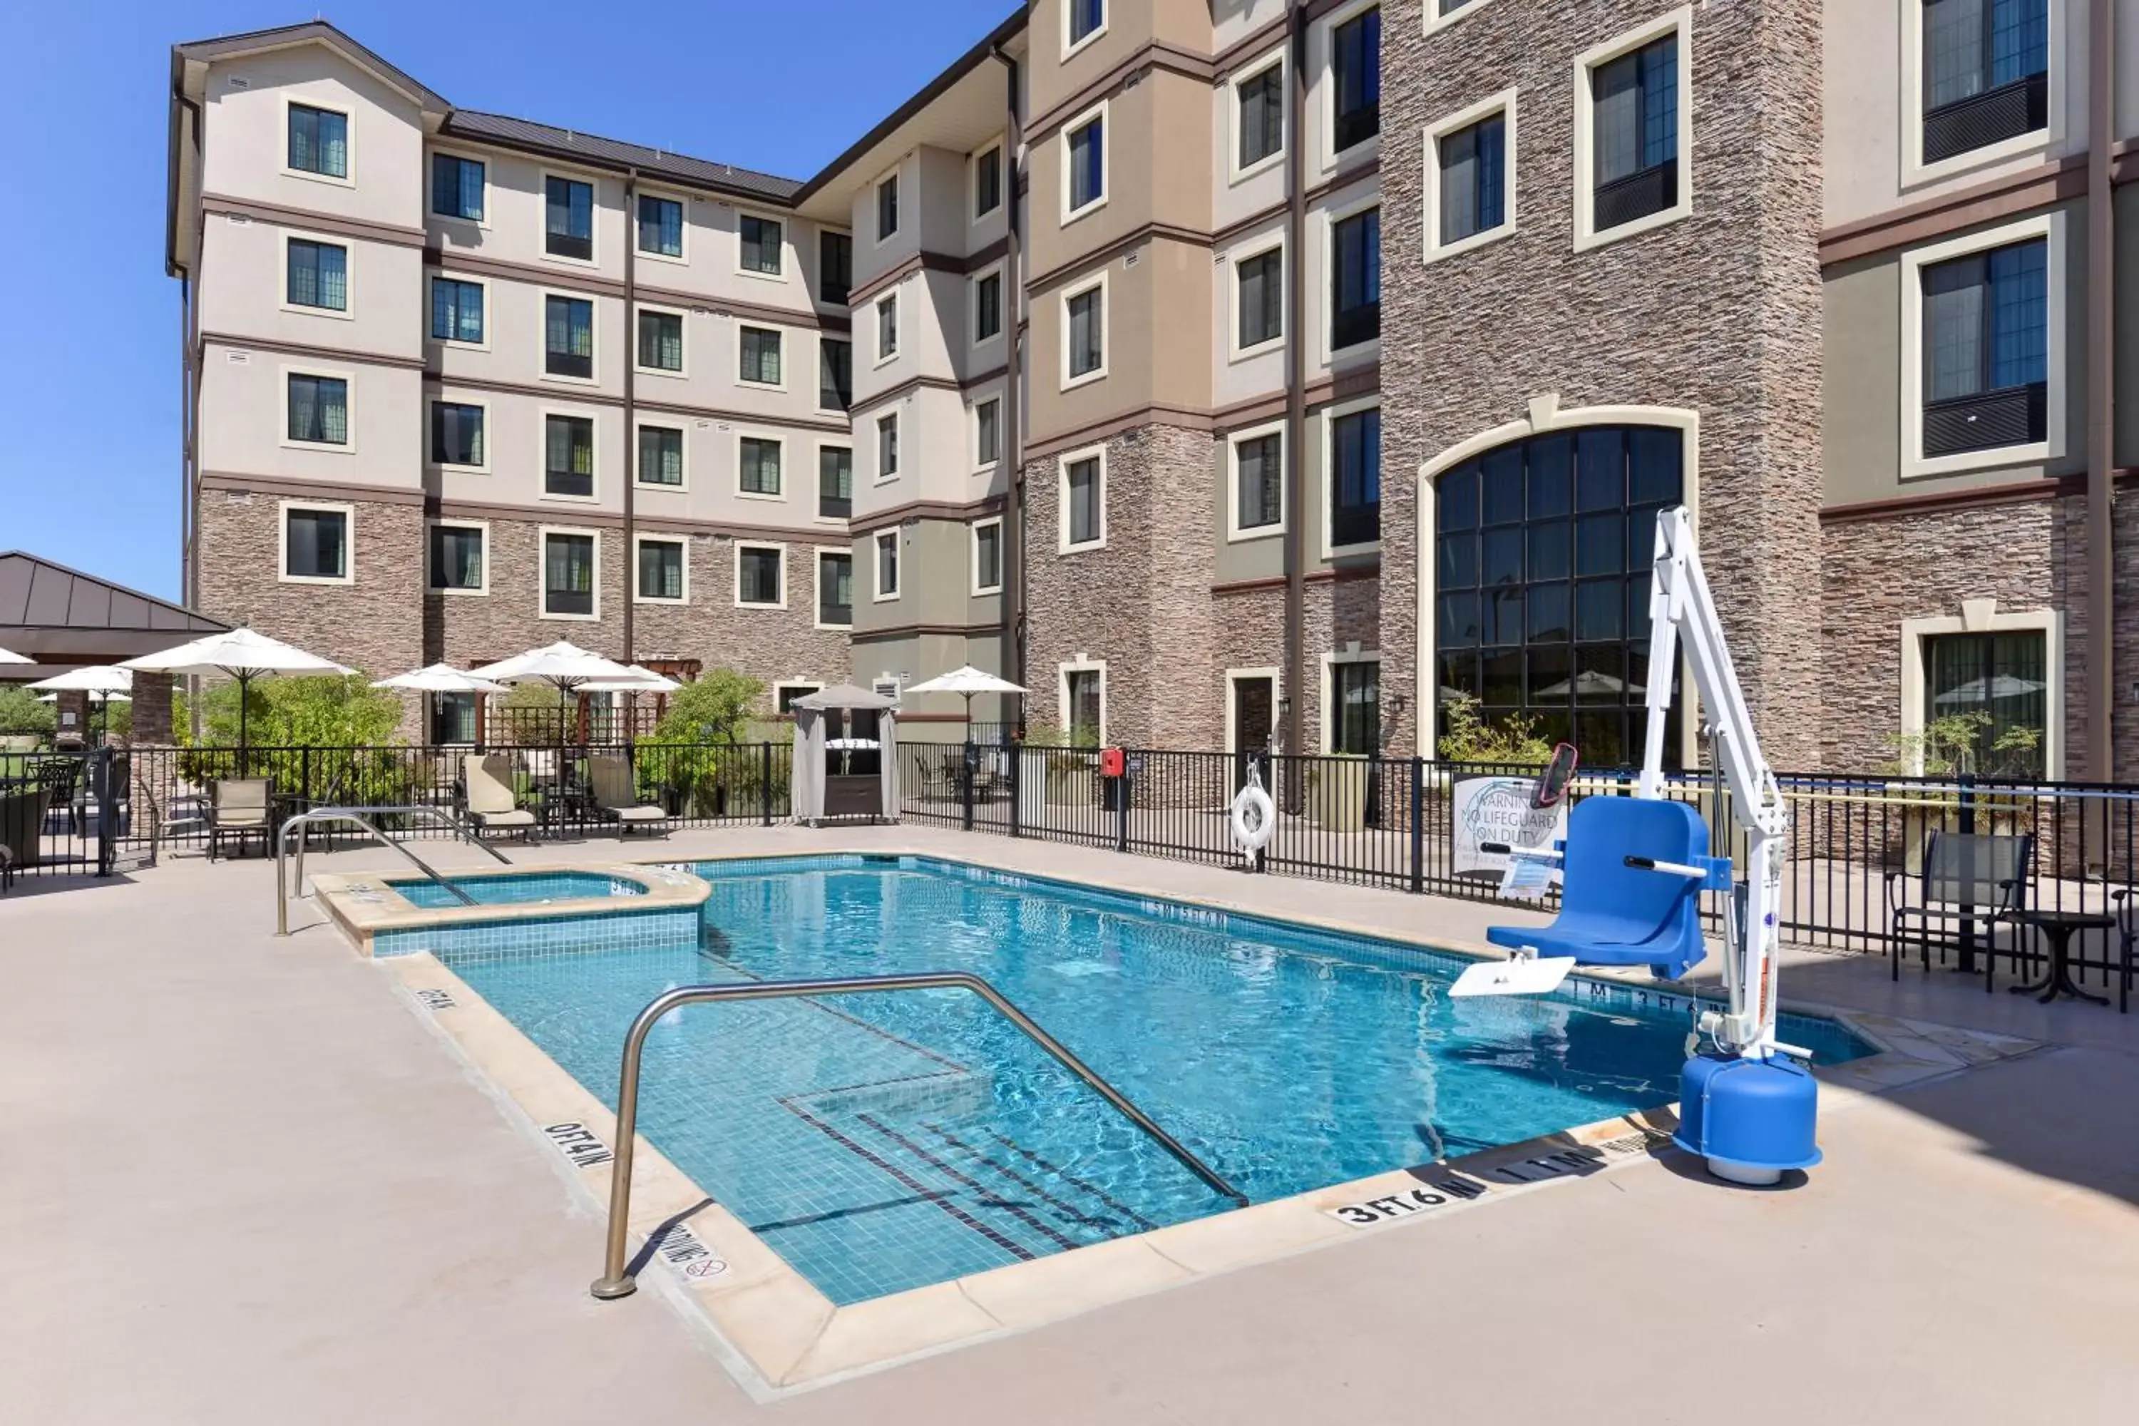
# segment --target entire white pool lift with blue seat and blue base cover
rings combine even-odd
[[[1760,757],[1752,714],[1730,667],[1722,620],[1709,594],[1686,507],[1656,520],[1649,586],[1649,667],[1671,669],[1686,644],[1701,703],[1711,716],[1715,765],[1745,832],[1748,874],[1733,883],[1730,859],[1707,855],[1701,815],[1664,797],[1664,714],[1673,678],[1649,678],[1649,727],[1632,797],[1596,795],[1568,817],[1566,838],[1544,847],[1493,847],[1517,862],[1561,872],[1559,919],[1551,926],[1493,926],[1506,962],[1472,966],[1450,994],[1542,994],[1576,964],[1649,966],[1677,979],[1707,956],[1701,892],[1726,892],[1722,1009],[1703,1009],[1679,1075],[1673,1142],[1707,1159],[1728,1182],[1773,1184],[1786,1169],[1820,1161],[1814,1144],[1818,1086],[1799,1050],[1775,1039],[1778,911],[1790,810]],[[1711,1050],[1696,1054],[1701,1037]]]

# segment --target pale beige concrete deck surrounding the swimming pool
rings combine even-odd
[[[507,855],[834,847],[1465,941],[1512,919],[922,827]],[[601,1225],[571,1169],[319,906],[291,924],[272,934],[265,862],[0,898],[0,1383],[21,1420],[2092,1424],[2139,1394],[2139,1016],[1792,954],[1786,998],[2043,1048],[1833,1105],[1799,1189],[1641,1161],[759,1405],[663,1293],[586,1296]],[[1728,1379],[1769,1385],[1724,1409]]]

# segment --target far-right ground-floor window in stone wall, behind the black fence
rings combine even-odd
[[[1968,716],[1961,772],[2045,776],[2049,639],[2043,631],[1944,633],[1923,641],[1923,718]]]

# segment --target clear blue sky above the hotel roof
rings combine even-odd
[[[809,177],[1016,0],[24,4],[0,86],[0,549],[178,596],[171,45],[323,17],[456,105]],[[642,19],[659,15],[657,21]],[[616,24],[620,21],[620,24]]]

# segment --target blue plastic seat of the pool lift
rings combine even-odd
[[[1583,797],[1568,812],[1559,919],[1551,926],[1491,926],[1487,941],[1585,966],[1649,966],[1679,979],[1701,964],[1703,885],[1692,877],[1628,866],[1628,857],[1728,868],[1709,855],[1709,830],[1683,802]]]

